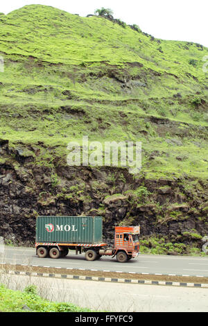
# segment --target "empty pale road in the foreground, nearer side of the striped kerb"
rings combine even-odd
[[[0,278],[1,280],[1,278]],[[202,288],[118,284],[47,277],[4,275],[10,289],[35,284],[39,294],[56,302],[71,302],[94,311],[207,312],[208,291]],[[71,321],[71,320],[70,320]]]

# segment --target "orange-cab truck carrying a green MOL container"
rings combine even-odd
[[[114,246],[103,242],[101,216],[38,216],[35,248],[40,258],[57,259],[75,250],[85,252],[85,259],[94,261],[102,256],[116,257],[124,263],[139,255],[140,226],[115,226]]]

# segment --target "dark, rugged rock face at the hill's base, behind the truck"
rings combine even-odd
[[[6,241],[34,246],[38,215],[103,216],[103,240],[111,244],[114,225],[140,224],[142,239],[165,237],[198,247],[208,234],[206,182],[190,191],[190,180],[134,178],[127,169],[54,170],[35,164],[31,153],[10,149],[8,141],[0,148],[6,157],[0,164],[0,236]]]

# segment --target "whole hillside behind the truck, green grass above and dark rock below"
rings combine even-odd
[[[184,243],[200,248],[208,233],[207,48],[32,5],[0,14],[0,55],[3,236],[31,244],[37,214],[99,214],[106,238],[114,223],[140,223],[149,248],[155,237],[180,252]],[[86,135],[141,141],[141,173],[67,166],[67,144]]]

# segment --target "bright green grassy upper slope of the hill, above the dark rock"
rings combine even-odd
[[[0,55],[0,136],[11,146],[41,141],[66,162],[83,135],[142,141],[148,177],[208,177],[207,48],[31,5],[0,16]]]

